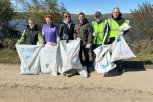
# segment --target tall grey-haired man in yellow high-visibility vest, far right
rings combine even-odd
[[[107,42],[108,44],[112,44],[115,41],[115,38],[118,36],[119,30],[129,24],[129,20],[126,20],[122,17],[122,13],[120,12],[120,9],[118,7],[115,7],[112,12],[112,18],[107,20],[108,23],[108,36],[107,36]],[[123,35],[127,33],[128,30],[123,31]],[[115,62],[117,64],[118,71],[120,73],[123,73],[122,69],[122,61]],[[108,73],[105,73],[104,76],[109,75]]]

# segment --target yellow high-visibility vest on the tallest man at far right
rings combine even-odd
[[[108,38],[110,39],[111,37],[117,37],[120,27],[122,27],[124,24],[127,24],[127,23],[129,24],[129,20],[125,20],[125,22],[121,26],[119,26],[115,20],[108,19],[108,24],[110,27],[110,32],[109,32]]]

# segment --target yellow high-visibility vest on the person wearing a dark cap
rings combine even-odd
[[[105,25],[106,25],[106,21],[102,21],[102,22],[100,22],[100,24],[97,24],[96,21],[92,22],[92,26],[94,28],[94,32],[98,33],[94,37],[94,41],[93,41],[94,44],[102,44],[103,37],[104,37]]]

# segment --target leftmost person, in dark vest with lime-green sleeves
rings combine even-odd
[[[43,44],[44,39],[41,31],[37,28],[35,20],[28,19],[27,28],[23,31],[21,38],[17,42],[18,44],[36,45],[37,43]]]

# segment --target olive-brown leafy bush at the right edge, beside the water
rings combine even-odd
[[[144,2],[131,12],[133,17],[131,38],[153,40],[153,4]]]

